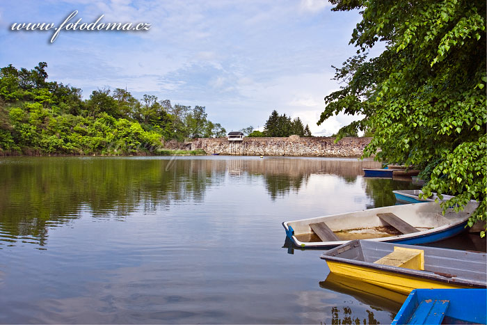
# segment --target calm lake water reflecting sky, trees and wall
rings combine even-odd
[[[282,221],[394,205],[374,161],[0,159],[1,323],[388,324]],[[468,241],[468,239],[466,239]]]

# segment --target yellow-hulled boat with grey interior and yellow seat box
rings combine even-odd
[[[321,255],[330,272],[388,290],[486,288],[487,254],[353,240]]]

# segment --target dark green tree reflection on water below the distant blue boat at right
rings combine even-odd
[[[362,179],[365,182],[365,193],[374,202],[367,205],[367,209],[372,207],[387,207],[394,205],[396,198],[392,191],[397,189],[417,189],[411,182],[391,180],[390,178],[369,178]]]

